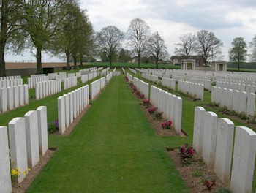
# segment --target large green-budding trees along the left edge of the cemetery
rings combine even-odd
[[[42,51],[75,61],[90,55],[94,31],[78,0],[1,1],[0,76],[6,75],[4,53],[36,49],[37,73],[42,72]]]

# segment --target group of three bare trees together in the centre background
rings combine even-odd
[[[168,57],[165,41],[158,31],[151,34],[148,24],[140,18],[135,18],[129,23],[126,34],[116,26],[107,26],[97,33],[98,51],[99,53],[104,53],[110,61],[110,66],[116,53],[121,50],[125,39],[127,40],[127,46],[131,48],[130,52],[138,56],[139,67],[143,56],[151,58],[157,64],[157,67],[159,60],[164,60]],[[125,50],[122,50],[122,54],[127,56]]]

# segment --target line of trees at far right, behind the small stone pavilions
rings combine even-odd
[[[176,44],[175,53],[178,56],[190,56],[199,55],[202,56],[204,64],[211,59],[222,59],[222,42],[215,37],[214,33],[207,30],[197,31],[196,34],[188,33],[179,37],[181,42]],[[236,37],[231,42],[231,48],[228,52],[230,61],[238,64],[238,70],[240,64],[246,61],[248,58],[250,61],[256,61],[256,35],[249,42],[249,48],[251,53],[249,54],[248,47],[243,37]]]

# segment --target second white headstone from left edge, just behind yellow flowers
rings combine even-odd
[[[12,168],[18,167],[21,172],[28,171],[25,118],[13,118],[9,122],[8,128]],[[18,183],[23,181],[25,177],[26,175],[21,174],[18,177]]]

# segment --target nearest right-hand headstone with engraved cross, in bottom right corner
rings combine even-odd
[[[236,127],[230,190],[251,192],[255,169],[256,133],[246,126]]]

